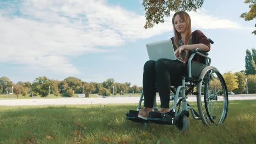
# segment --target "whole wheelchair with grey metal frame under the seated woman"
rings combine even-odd
[[[208,38],[211,44],[214,42]],[[203,56],[204,63],[192,61],[194,56]],[[156,123],[163,125],[176,125],[182,133],[189,130],[189,111],[195,120],[202,120],[206,126],[221,125],[227,117],[228,112],[228,91],[227,85],[221,73],[213,66],[210,66],[211,58],[208,53],[196,48],[191,51],[188,59],[188,77],[182,77],[182,85],[171,86],[173,96],[170,96],[170,112],[159,113],[156,103],[156,96],[153,104],[153,112],[149,112],[146,119],[138,117],[141,109],[141,102],[144,101],[144,93],[141,97],[137,110],[129,110],[127,120],[136,123]],[[196,90],[196,91],[195,91]],[[197,109],[192,108],[187,102],[188,94],[196,95]],[[182,105],[182,107],[181,107]]]

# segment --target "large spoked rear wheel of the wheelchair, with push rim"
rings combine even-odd
[[[197,85],[197,107],[202,122],[209,126],[213,123],[220,125],[227,117],[228,93],[224,78],[212,66],[205,67],[199,79],[202,81]]]

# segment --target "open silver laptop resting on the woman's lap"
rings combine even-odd
[[[153,43],[147,43],[146,48],[147,48],[147,53],[149,55],[149,60],[157,61],[158,59],[165,58],[165,59],[181,61],[175,56],[173,43],[171,39],[157,41]],[[181,61],[181,62],[184,63],[184,61]]]

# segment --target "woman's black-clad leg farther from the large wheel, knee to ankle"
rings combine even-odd
[[[153,107],[153,102],[156,94],[155,88],[155,62],[149,60],[144,64],[143,72],[143,92],[144,92],[144,107]]]

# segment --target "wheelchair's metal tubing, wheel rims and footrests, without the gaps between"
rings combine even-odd
[[[211,44],[213,44],[213,41],[211,39],[209,39],[209,41],[211,42]],[[200,73],[198,80],[194,80],[194,78],[192,77],[191,62],[192,62],[192,59],[195,56],[195,54],[199,54],[199,55],[205,57],[205,65],[206,65],[206,67]],[[215,67],[210,66],[210,64],[211,64],[211,58],[208,57],[208,53],[200,50],[199,48],[192,50],[192,54],[188,60],[187,82],[186,82],[186,78],[183,77],[182,85],[178,86],[176,88],[176,91],[173,88],[171,88],[171,91],[174,93],[174,103],[173,103],[173,107],[170,110],[171,113],[170,114],[168,113],[168,115],[165,113],[162,113],[161,115],[158,115],[158,118],[149,118],[147,120],[142,120],[142,119],[138,118],[138,112],[141,108],[141,102],[144,101],[144,99],[143,99],[144,92],[142,91],[141,97],[139,99],[137,111],[130,110],[129,113],[126,113],[126,116],[127,116],[126,119],[133,120],[135,122],[144,123],[145,126],[147,126],[147,122],[149,122],[149,121],[151,121],[153,123],[158,123],[158,124],[169,124],[169,125],[175,124],[179,129],[182,129],[182,133],[184,133],[184,131],[189,129],[188,117],[189,117],[189,110],[190,110],[192,117],[195,120],[202,120],[203,124],[205,124],[206,126],[209,126],[209,124],[210,124],[209,122],[214,123],[216,125],[220,125],[221,123],[224,122],[225,118],[227,117],[227,111],[228,111],[227,85],[224,81],[224,78],[220,74],[220,72]],[[220,79],[221,88],[222,88],[222,97],[223,97],[223,109],[222,110],[223,111],[221,113],[221,118],[220,118],[219,122],[218,121],[214,122],[214,119],[216,119],[216,115],[213,114],[214,113],[213,108],[211,109],[211,112],[209,112],[209,110],[208,110],[208,107],[209,107],[209,104],[211,103],[211,101],[217,101],[218,99],[220,99],[218,97],[219,91],[217,91],[217,93],[214,92],[216,94],[215,96],[212,95],[211,93],[209,93],[209,91],[211,91],[211,90],[209,90],[211,82],[208,82],[208,80],[216,78],[211,75],[213,73],[216,73],[217,78]],[[202,92],[203,83],[204,83],[204,91]],[[193,88],[195,88],[195,86],[197,86],[197,92],[193,93]],[[188,88],[188,90],[186,91],[187,88]],[[180,91],[181,91],[181,96],[179,94]],[[195,109],[193,109],[187,103],[187,98],[188,98],[187,94],[190,92],[197,95],[197,108],[198,108],[199,113],[196,112]],[[202,100],[201,100],[202,93],[204,95],[204,104],[202,104]],[[178,99],[179,99],[179,101],[178,101]],[[182,101],[182,109],[181,109],[181,112],[179,112],[181,101]],[[178,109],[177,109],[177,106],[179,106]],[[203,110],[203,106],[205,106],[205,110]],[[153,109],[155,112],[158,111],[157,103],[156,103],[156,96],[154,99]],[[205,116],[206,115],[205,111],[206,111],[207,116]],[[151,115],[150,112],[149,112],[149,115]],[[171,115],[171,117],[170,117],[170,115]]]

